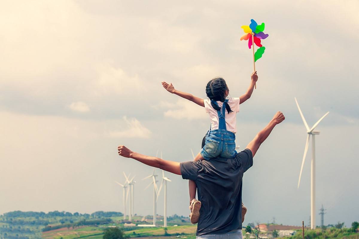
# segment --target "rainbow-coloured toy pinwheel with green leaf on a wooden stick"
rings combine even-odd
[[[253,68],[256,71],[255,62],[262,57],[264,50],[266,49],[261,44],[261,39],[266,39],[268,34],[265,34],[264,31],[264,23],[258,25],[255,20],[251,19],[251,24],[249,26],[243,25],[241,27],[244,30],[244,35],[242,35],[241,40],[248,40],[248,48],[253,49]],[[256,44],[259,48],[256,53],[254,52],[254,44]],[[256,86],[257,88],[257,86]]]

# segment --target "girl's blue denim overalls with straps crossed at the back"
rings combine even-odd
[[[212,102],[212,101],[211,101]],[[213,101],[219,107],[216,101]],[[228,100],[225,100],[228,102]],[[236,135],[227,130],[225,125],[225,104],[221,110],[217,110],[219,125],[218,129],[209,130],[206,134],[206,142],[201,150],[201,156],[204,159],[211,159],[215,157],[233,158],[236,154]],[[222,112],[221,112],[222,111]]]

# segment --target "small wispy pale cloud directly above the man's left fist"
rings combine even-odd
[[[109,132],[109,136],[113,138],[150,138],[151,131],[141,124],[136,118],[122,118],[127,124],[127,129],[121,131]]]

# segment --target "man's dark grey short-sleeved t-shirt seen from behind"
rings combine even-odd
[[[242,177],[252,165],[250,149],[234,158],[181,163],[182,178],[196,182],[202,202],[197,236],[242,229]]]

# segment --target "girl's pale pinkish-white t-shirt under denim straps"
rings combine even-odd
[[[223,102],[217,101],[217,104],[222,108]],[[236,133],[236,114],[239,111],[239,98],[230,98],[228,100],[228,105],[230,106],[230,109],[233,110],[233,112],[228,114],[228,111],[225,110],[225,125],[228,131]],[[218,113],[215,109],[213,109],[211,100],[204,100],[204,107],[206,109],[206,113],[209,114],[209,118],[211,119],[211,130],[218,129]]]

